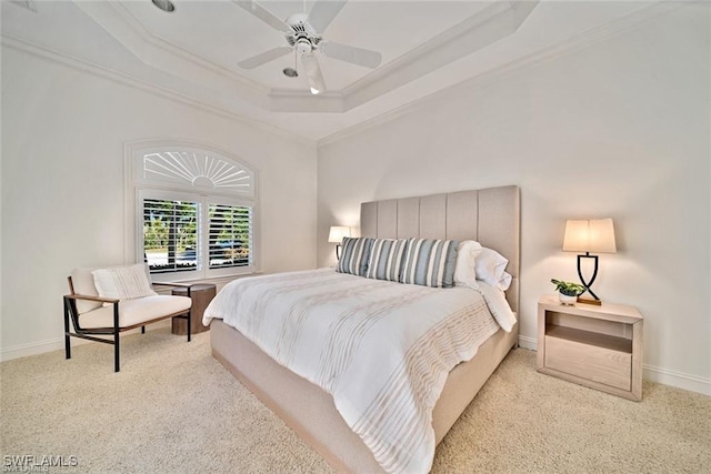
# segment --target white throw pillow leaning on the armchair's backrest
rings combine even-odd
[[[157,295],[148,281],[146,264],[113,266],[91,272],[99,296],[133,300]]]

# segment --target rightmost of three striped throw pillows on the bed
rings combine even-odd
[[[402,283],[433,288],[454,285],[455,240],[410,239],[402,268]]]

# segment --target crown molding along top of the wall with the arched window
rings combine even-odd
[[[258,119],[252,119],[243,114],[236,113],[223,107],[219,107],[219,105],[209,103],[207,101],[197,99],[194,97],[180,93],[174,89],[159,87],[159,85],[156,85],[153,82],[137,79],[124,72],[116,71],[102,64],[97,64],[94,62],[79,59],[73,56],[47,48],[44,46],[34,44],[32,42],[7,34],[4,32],[0,33],[0,44],[29,56],[33,56],[37,58],[41,58],[51,62],[62,64],[64,67],[77,69],[79,71],[92,74],[101,79],[107,79],[109,81],[112,81],[122,85],[128,85],[134,89],[139,89],[143,92],[148,92],[150,94],[160,97],[162,99],[172,100],[183,105],[191,107],[193,109],[201,110],[203,112],[222,117],[224,119],[238,122],[246,127],[262,130],[267,133],[276,134],[278,137],[283,137],[284,139],[288,139],[288,140],[293,140],[299,143],[308,144],[308,145],[312,145],[314,143],[314,140],[308,139],[306,137],[281,129],[279,127],[266,123]]]

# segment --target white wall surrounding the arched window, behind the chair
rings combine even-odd
[[[314,266],[314,143],[9,47],[2,100],[3,359],[62,346],[72,268],[123,262],[126,142],[187,140],[244,161],[260,179],[261,269]]]

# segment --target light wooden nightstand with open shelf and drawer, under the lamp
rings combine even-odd
[[[538,371],[640,401],[643,322],[632,306],[565,306],[544,295],[538,303]]]

